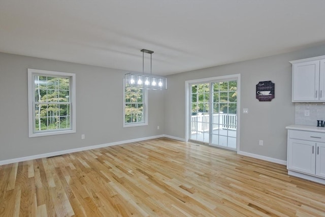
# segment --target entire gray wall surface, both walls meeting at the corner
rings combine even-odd
[[[240,112],[249,109],[241,113],[240,150],[286,160],[285,127],[295,123],[288,61],[319,55],[325,45],[171,75],[167,91],[149,91],[149,126],[123,128],[126,71],[0,53],[0,160],[162,134],[185,138],[185,81],[231,74],[241,74]],[[28,138],[27,68],[76,73],[77,133]],[[255,85],[267,80],[275,83],[275,99],[258,102]]]

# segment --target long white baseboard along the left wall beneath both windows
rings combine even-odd
[[[149,137],[143,137],[143,138],[138,138],[138,139],[129,139],[129,140],[123,140],[123,141],[118,141],[118,142],[111,142],[111,143],[106,143],[106,144],[92,145],[92,146],[86,146],[86,147],[81,147],[81,148],[73,148],[73,149],[68,149],[68,150],[61,150],[61,151],[37,154],[37,155],[33,155],[33,156],[26,156],[26,157],[22,157],[22,158],[3,160],[3,161],[0,161],[0,165],[12,164],[12,163],[17,163],[17,162],[21,162],[21,161],[29,161],[29,160],[39,159],[39,158],[48,158],[48,157],[58,156],[60,154],[73,153],[73,152],[77,152],[77,151],[84,151],[84,150],[90,150],[90,149],[95,149],[95,148],[103,148],[103,147],[120,145],[120,144],[131,143],[131,142],[139,142],[139,141],[148,140],[148,139],[156,139],[156,138],[160,138],[160,137],[164,137],[164,136],[165,135],[149,136]]]

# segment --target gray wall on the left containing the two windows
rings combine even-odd
[[[28,138],[27,68],[76,73],[77,133]],[[148,126],[123,128],[126,73],[0,53],[0,160],[164,134],[164,91],[149,91]]]

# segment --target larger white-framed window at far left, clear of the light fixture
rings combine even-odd
[[[29,137],[76,132],[75,74],[28,69]]]

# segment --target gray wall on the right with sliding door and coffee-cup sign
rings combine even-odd
[[[165,95],[165,134],[185,138],[186,80],[241,74],[240,112],[248,108],[249,113],[241,113],[240,151],[285,161],[285,127],[295,123],[289,61],[320,55],[325,55],[325,45],[169,76]],[[259,102],[255,99],[255,85],[268,80],[275,83],[275,99]],[[258,140],[264,140],[264,146],[259,146]]]

